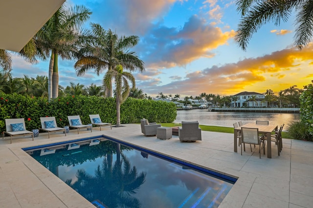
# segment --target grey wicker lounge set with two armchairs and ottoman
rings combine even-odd
[[[161,124],[149,123],[145,118],[140,119],[141,132],[145,136],[155,136],[159,139],[170,139],[178,135],[180,141],[195,142],[201,140],[201,128],[198,121],[182,121],[181,127],[162,127]]]

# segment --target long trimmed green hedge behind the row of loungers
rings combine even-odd
[[[173,122],[176,118],[174,103],[129,97],[120,108],[122,124]],[[116,124],[115,98],[97,96],[59,97],[50,102],[45,98],[18,94],[0,94],[0,132],[5,131],[4,119],[24,118],[27,130],[41,127],[40,117],[55,116],[59,127],[68,125],[67,115],[80,115],[84,124],[90,123],[89,114],[99,114],[102,122]]]

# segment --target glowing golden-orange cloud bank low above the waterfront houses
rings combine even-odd
[[[313,44],[299,51],[294,48],[286,48],[257,58],[245,58],[236,63],[228,63],[221,66],[212,66],[186,74],[185,79],[174,80],[172,83],[145,88],[138,85],[138,88],[150,95],[158,92],[164,94],[200,95],[201,93],[212,93],[219,95],[235,95],[246,91],[249,87],[258,88],[260,92],[272,89],[274,92],[284,90],[282,87],[290,85],[282,78],[290,79],[295,85],[296,79],[312,78],[306,76],[304,70],[312,62]],[[294,75],[296,73],[297,75]],[[280,81],[281,80],[281,81]],[[288,83],[288,84],[286,84]]]

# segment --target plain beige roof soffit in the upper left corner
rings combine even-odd
[[[65,0],[0,0],[0,49],[19,52]]]

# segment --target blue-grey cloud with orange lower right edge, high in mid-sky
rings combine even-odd
[[[234,33],[233,30],[223,33],[206,19],[194,15],[180,30],[161,26],[150,31],[142,38],[138,48],[145,52],[144,62],[147,67],[184,66],[200,57],[214,57],[211,51],[227,44]]]

